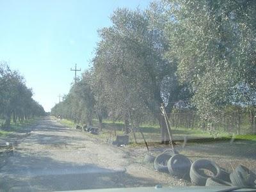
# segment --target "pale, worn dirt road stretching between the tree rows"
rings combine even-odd
[[[93,188],[187,185],[155,172],[125,148],[44,118],[20,141],[1,168],[4,191],[60,191]]]

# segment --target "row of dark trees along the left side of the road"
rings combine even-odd
[[[32,96],[33,92],[26,86],[24,77],[17,70],[11,70],[5,62],[0,62],[1,127],[8,128],[11,119],[13,122],[22,122],[45,115],[44,108]]]

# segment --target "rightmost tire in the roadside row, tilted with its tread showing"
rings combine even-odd
[[[245,166],[239,165],[230,173],[230,180],[233,186],[255,186],[256,175]]]

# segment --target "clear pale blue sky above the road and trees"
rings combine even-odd
[[[0,0],[0,61],[20,71],[45,111],[67,94],[75,63],[86,70],[116,8],[147,8],[151,0]],[[81,74],[81,73],[78,73]]]

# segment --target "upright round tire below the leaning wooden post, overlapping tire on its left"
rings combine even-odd
[[[181,154],[172,156],[167,162],[167,168],[170,175],[189,179],[189,170],[191,168],[191,161],[188,157]]]

